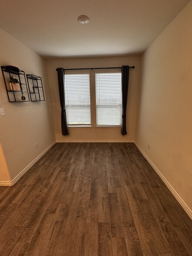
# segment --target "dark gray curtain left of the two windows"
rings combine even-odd
[[[67,127],[67,116],[65,109],[65,93],[64,93],[64,69],[62,67],[57,68],[58,86],[59,86],[59,98],[61,104],[61,130],[62,135],[69,135]]]

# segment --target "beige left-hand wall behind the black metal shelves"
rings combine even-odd
[[[0,182],[13,180],[53,141],[54,127],[45,60],[0,29],[0,65],[13,65],[42,77],[45,101],[10,103],[0,71]],[[38,148],[35,148],[38,143]]]

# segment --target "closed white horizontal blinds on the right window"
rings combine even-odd
[[[121,125],[121,73],[97,73],[95,84],[97,125]]]

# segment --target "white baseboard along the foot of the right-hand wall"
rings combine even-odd
[[[168,189],[172,192],[172,194],[175,196],[179,204],[182,206],[182,208],[185,210],[185,212],[189,215],[189,217],[192,219],[192,210],[186,205],[186,203],[183,201],[183,199],[180,197],[180,195],[173,189],[172,185],[165,179],[165,177],[162,175],[162,173],[159,171],[159,169],[154,165],[154,163],[148,158],[148,156],[145,154],[145,152],[142,150],[142,148],[137,144],[136,141],[134,141],[136,147],[139,149],[141,154],[145,157],[145,159],[148,161],[148,163],[152,166],[152,168],[157,172],[159,177],[162,179],[162,181],[165,183],[165,185],[168,187]]]

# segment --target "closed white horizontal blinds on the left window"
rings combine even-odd
[[[91,125],[89,74],[65,74],[68,125]]]

